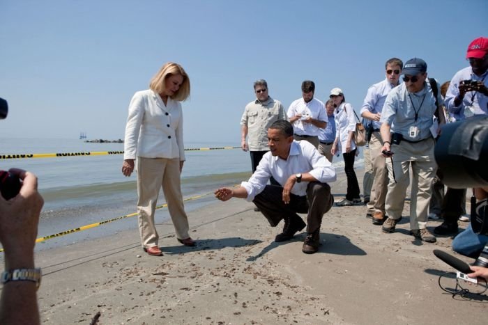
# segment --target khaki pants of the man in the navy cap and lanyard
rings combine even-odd
[[[402,141],[399,145],[392,144],[391,151],[395,153],[392,156],[393,163],[386,159],[388,173],[391,175],[386,194],[386,213],[391,219],[402,217],[411,167],[410,229],[426,228],[431,185],[437,169],[434,161],[434,139],[429,138],[418,143]]]

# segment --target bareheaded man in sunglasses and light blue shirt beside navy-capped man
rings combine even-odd
[[[388,187],[388,170],[386,169],[386,159],[381,154],[381,134],[379,129],[381,123],[381,111],[385,104],[386,96],[390,91],[398,86],[399,77],[402,73],[403,62],[399,58],[390,58],[386,61],[386,79],[369,87],[361,116],[372,121],[372,134],[369,139],[369,155],[372,161],[373,184],[369,203],[367,203],[366,216],[372,218],[374,225],[381,225],[386,219],[385,198]]]

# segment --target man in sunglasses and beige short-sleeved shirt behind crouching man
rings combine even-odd
[[[252,173],[256,171],[263,155],[269,151],[268,127],[277,120],[287,119],[281,102],[273,100],[268,95],[266,80],[254,81],[254,93],[256,100],[245,106],[241,118],[241,148],[244,151],[250,151]],[[271,179],[271,182],[273,183],[275,180]]]

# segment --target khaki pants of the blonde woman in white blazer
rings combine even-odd
[[[183,206],[180,184],[180,159],[137,157],[137,212],[139,212],[139,233],[142,246],[158,246],[158,230],[154,223],[154,212],[159,190],[165,194],[169,215],[173,221],[176,236],[187,239],[188,217]]]

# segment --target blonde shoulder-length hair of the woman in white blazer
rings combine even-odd
[[[174,95],[171,96],[172,100],[184,101],[190,97],[190,78],[186,74],[185,69],[178,63],[168,62],[165,63],[158,71],[157,74],[151,79],[149,88],[155,93],[161,94],[166,88],[166,79],[174,76],[175,74],[181,74],[183,77],[183,83]]]

